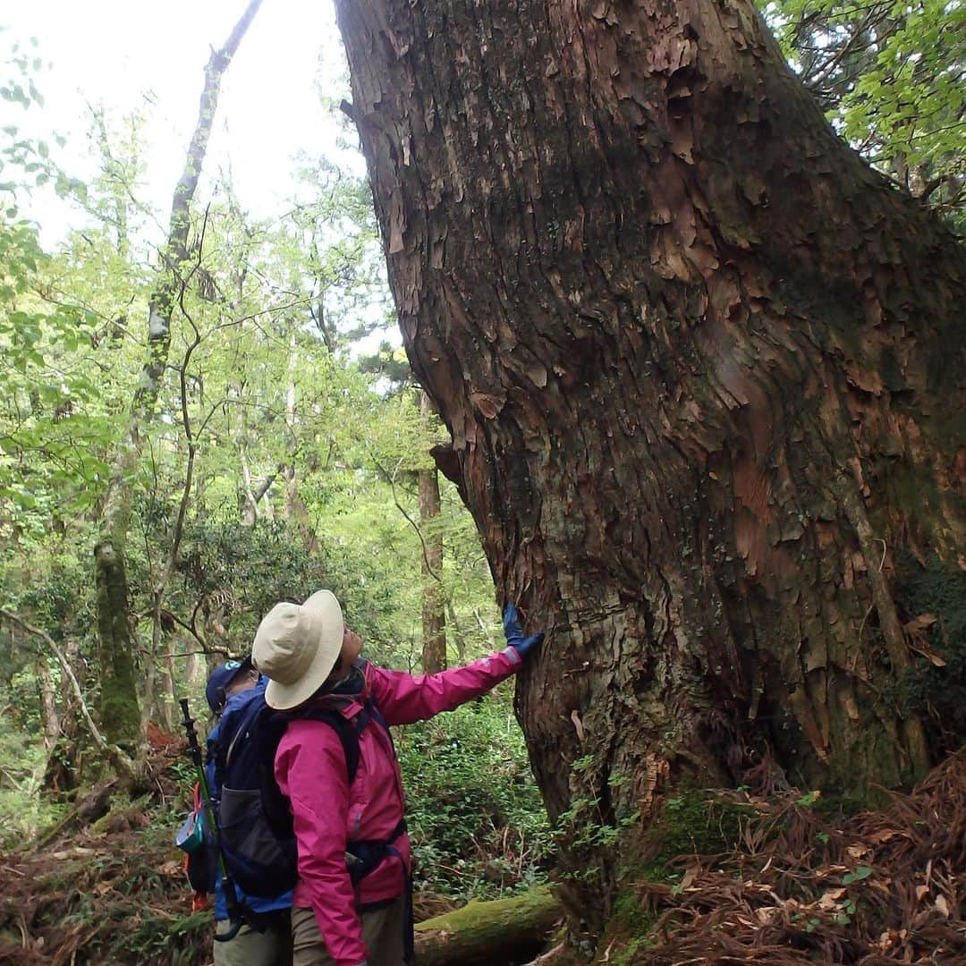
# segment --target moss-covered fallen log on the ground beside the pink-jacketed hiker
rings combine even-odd
[[[563,909],[549,886],[416,923],[419,966],[512,966],[530,962],[547,944]]]

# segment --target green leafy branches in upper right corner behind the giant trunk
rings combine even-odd
[[[946,0],[769,0],[781,48],[835,128],[962,226],[966,7]]]

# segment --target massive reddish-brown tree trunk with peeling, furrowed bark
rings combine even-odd
[[[966,566],[962,250],[748,0],[338,10],[413,370],[550,632],[518,698],[552,817],[922,774],[895,572]]]

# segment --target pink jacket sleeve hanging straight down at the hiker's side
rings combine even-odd
[[[366,958],[355,891],[346,868],[349,776],[335,730],[303,721],[296,740],[280,746],[275,778],[292,801],[298,844],[298,876],[309,887],[316,923],[337,966]],[[295,789],[295,794],[292,790]]]

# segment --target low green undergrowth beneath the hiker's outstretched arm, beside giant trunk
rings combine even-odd
[[[396,745],[417,888],[497,898],[542,881],[547,815],[504,696],[412,725]]]

